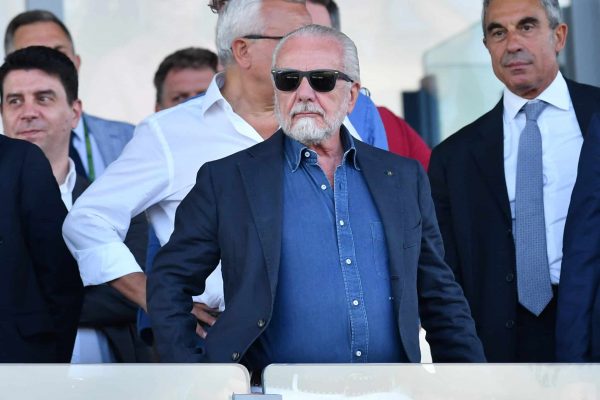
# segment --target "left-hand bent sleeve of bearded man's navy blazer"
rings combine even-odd
[[[177,208],[175,230],[148,274],[148,312],[162,362],[201,361],[190,311],[192,296],[204,292],[206,278],[219,263],[217,231],[218,207],[207,163]]]

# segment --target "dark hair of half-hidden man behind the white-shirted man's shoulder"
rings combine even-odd
[[[162,100],[163,84],[171,70],[210,68],[217,72],[219,60],[217,55],[210,50],[199,47],[188,47],[169,54],[158,66],[154,74],[154,87],[156,88],[156,102]]]

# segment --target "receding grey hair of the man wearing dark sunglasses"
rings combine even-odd
[[[360,66],[358,63],[358,51],[352,39],[343,34],[342,32],[329,28],[322,25],[307,25],[302,28],[296,29],[293,32],[288,33],[275,47],[273,52],[272,66],[277,66],[277,57],[281,48],[285,43],[295,37],[319,37],[324,39],[333,39],[340,44],[343,53],[343,71],[348,75],[354,82],[360,82]]]

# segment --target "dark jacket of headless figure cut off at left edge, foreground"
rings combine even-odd
[[[0,135],[0,362],[69,362],[83,287],[37,146]]]

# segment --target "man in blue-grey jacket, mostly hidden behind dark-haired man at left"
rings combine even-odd
[[[29,46],[46,46],[71,59],[79,71],[81,58],[75,53],[67,27],[49,11],[25,11],[14,17],[4,35],[4,52]],[[133,125],[83,113],[71,138],[70,156],[77,172],[93,181],[113,162],[133,135]]]

